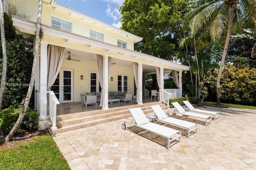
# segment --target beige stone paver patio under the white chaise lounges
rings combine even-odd
[[[53,138],[72,170],[256,169],[256,111],[206,109],[219,111],[220,119],[204,126],[203,121],[183,118],[199,124],[198,132],[190,138],[185,130],[168,126],[182,131],[181,142],[173,142],[170,150],[166,138],[129,124],[123,130],[123,120],[55,134]]]

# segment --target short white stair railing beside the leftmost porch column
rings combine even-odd
[[[53,91],[47,91],[48,93],[48,99],[49,99],[49,116],[52,121],[52,127],[51,130],[57,130],[58,128],[56,127],[56,109],[57,105],[60,104],[58,101],[56,95],[54,94]]]

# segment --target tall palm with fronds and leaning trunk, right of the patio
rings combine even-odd
[[[226,58],[228,44],[233,26],[246,29],[246,22],[250,22],[253,13],[250,9],[255,7],[255,0],[195,0],[194,8],[190,11],[191,34],[203,31],[211,36],[212,40],[226,35],[226,41],[220,62],[216,83],[217,104],[220,105],[220,77]],[[250,9],[249,9],[250,8]],[[254,24],[250,22],[250,24]]]

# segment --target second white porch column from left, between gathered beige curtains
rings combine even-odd
[[[103,89],[104,93],[102,110],[108,110],[108,55],[104,54],[103,56]]]

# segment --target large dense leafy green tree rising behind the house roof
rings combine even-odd
[[[187,0],[125,0],[120,7],[121,29],[143,38],[135,44],[136,51],[172,60],[173,30],[187,6]]]

